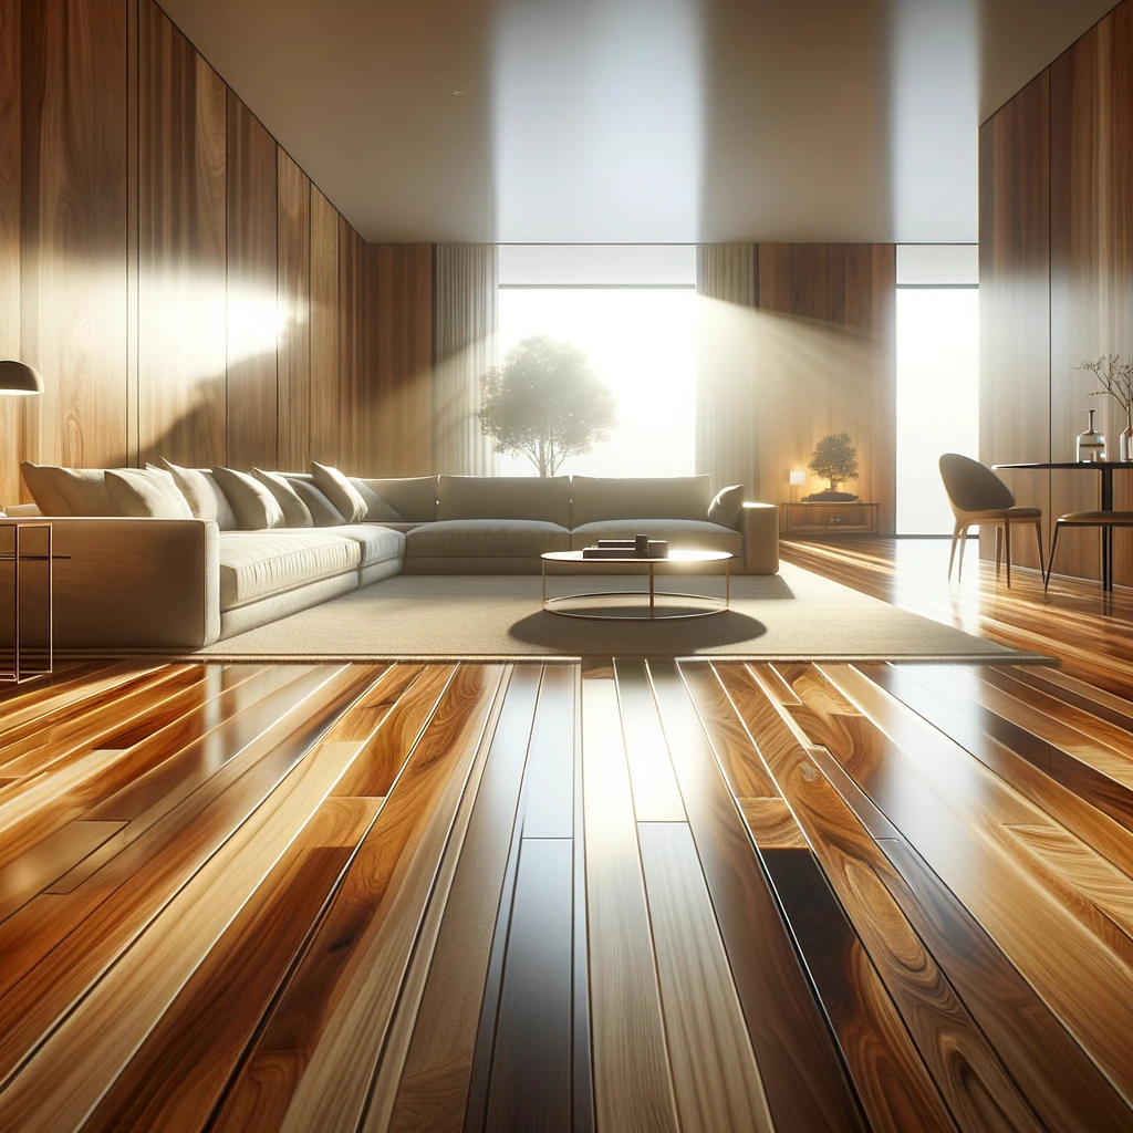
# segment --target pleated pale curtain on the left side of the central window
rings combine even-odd
[[[494,244],[438,244],[433,263],[433,460],[438,472],[491,476],[480,432],[484,374],[497,360],[500,269]]]

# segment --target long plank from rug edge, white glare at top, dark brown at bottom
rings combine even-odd
[[[657,662],[649,679],[776,1127],[862,1128],[826,1021],[680,673]]]

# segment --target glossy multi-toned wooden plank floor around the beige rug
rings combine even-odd
[[[1133,602],[1063,668],[79,664],[0,702],[0,1130],[1133,1128]]]

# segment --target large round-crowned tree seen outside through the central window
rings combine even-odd
[[[586,353],[540,334],[485,375],[479,419],[496,452],[522,453],[539,476],[554,476],[568,457],[605,441],[617,412]]]

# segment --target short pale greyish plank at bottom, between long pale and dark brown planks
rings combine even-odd
[[[743,1011],[685,823],[639,823],[681,1128],[773,1128]]]

